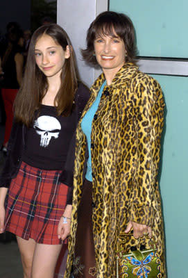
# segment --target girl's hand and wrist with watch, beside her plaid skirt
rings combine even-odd
[[[69,236],[71,231],[71,208],[72,206],[70,204],[67,204],[65,208],[65,212],[60,218],[60,222],[58,224],[58,238],[61,238],[62,240],[65,240],[65,238]],[[65,223],[65,218],[63,218],[63,216],[67,218],[66,223]]]

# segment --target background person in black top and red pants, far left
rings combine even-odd
[[[2,55],[3,80],[1,81],[1,94],[6,111],[6,129],[2,151],[6,154],[13,120],[13,104],[22,83],[24,56],[22,55],[22,30],[19,25],[12,22],[8,28],[8,42]]]

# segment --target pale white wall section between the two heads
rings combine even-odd
[[[81,79],[90,87],[101,73],[82,60],[80,49],[85,48],[87,29],[96,15],[108,10],[108,0],[58,0],[57,23],[65,28],[73,44]]]

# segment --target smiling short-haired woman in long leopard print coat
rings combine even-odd
[[[119,234],[131,230],[127,252],[142,241],[150,248],[152,237],[162,263],[159,277],[165,277],[156,179],[164,100],[157,81],[139,72],[135,52],[134,27],[126,15],[101,13],[89,26],[83,57],[103,73],[92,85],[76,131],[67,278],[71,265],[76,278],[116,277]]]

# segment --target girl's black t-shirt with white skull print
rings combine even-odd
[[[58,116],[56,108],[42,105],[26,133],[23,161],[45,170],[62,170],[75,130],[75,111]]]

